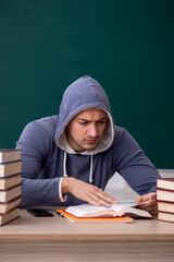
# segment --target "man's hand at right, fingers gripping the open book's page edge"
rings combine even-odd
[[[140,210],[148,211],[152,216],[157,216],[157,193],[149,193],[145,195],[139,195],[135,201],[135,204],[140,204],[138,207]]]

